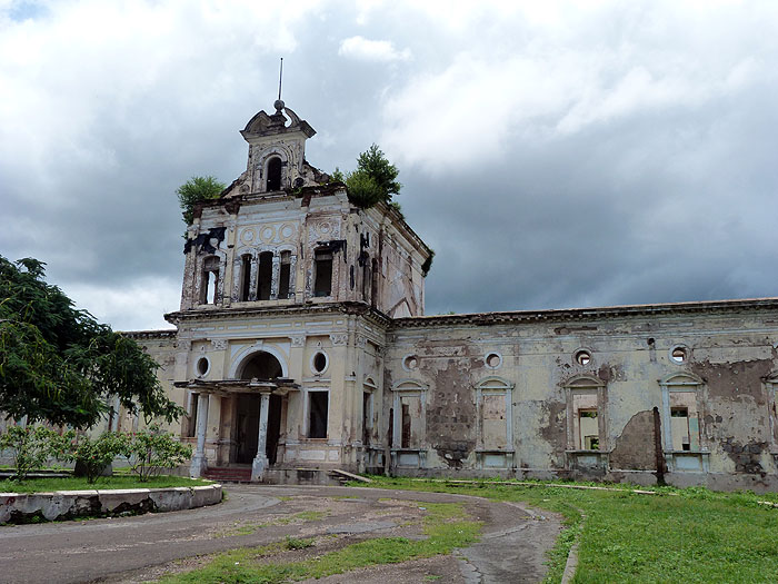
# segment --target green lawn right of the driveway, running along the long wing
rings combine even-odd
[[[640,495],[625,485],[607,492],[398,478],[370,486],[525,502],[560,513],[566,531],[550,554],[547,582],[560,581],[579,531],[576,583],[778,581],[778,508],[758,503],[775,501],[775,494],[695,487]]]

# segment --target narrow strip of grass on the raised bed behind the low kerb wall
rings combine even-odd
[[[211,485],[211,481],[192,479],[183,476],[154,476],[141,483],[137,476],[101,476],[89,484],[86,478],[31,478],[29,481],[0,481],[0,493],[50,493],[52,491],[93,491],[109,488],[166,488],[178,486]]]

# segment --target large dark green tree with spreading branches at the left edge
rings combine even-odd
[[[178,418],[182,409],[164,394],[153,359],[43,276],[41,261],[0,256],[0,412],[87,428],[114,396],[147,419]]]

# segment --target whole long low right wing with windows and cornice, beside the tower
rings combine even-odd
[[[778,488],[776,304],[397,319],[395,472]]]

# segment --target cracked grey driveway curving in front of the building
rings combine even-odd
[[[317,582],[538,582],[559,519],[477,497],[391,489],[230,486],[221,505],[178,513],[0,527],[2,582],[143,582],[194,567],[199,556],[286,536],[317,546],[277,560],[386,536],[419,537],[425,503],[463,503],[481,542],[452,556],[360,570]]]

